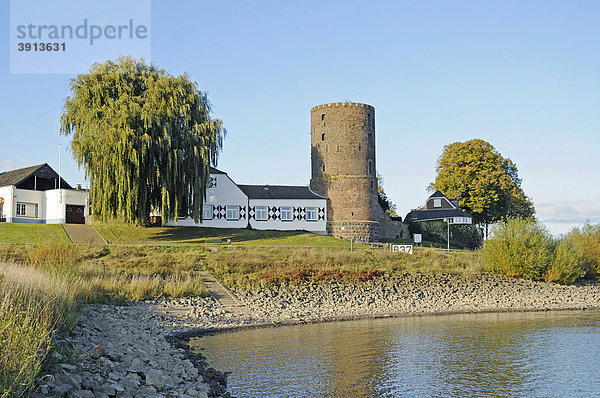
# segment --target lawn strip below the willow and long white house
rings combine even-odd
[[[258,231],[207,227],[136,227],[118,223],[97,223],[96,230],[114,244],[204,244],[221,239],[232,245],[348,247],[350,242],[306,231]]]

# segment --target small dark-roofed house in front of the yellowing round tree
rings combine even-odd
[[[435,191],[423,206],[408,213],[404,221],[406,223],[446,221],[449,224],[472,224],[473,217],[458,207],[458,200],[448,199],[442,192]]]

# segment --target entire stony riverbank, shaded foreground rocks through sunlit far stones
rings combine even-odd
[[[78,326],[59,342],[79,359],[53,365],[49,373],[54,376],[43,379],[45,396],[227,396],[225,375],[186,346],[190,337],[219,331],[388,316],[600,308],[597,283],[561,286],[492,274],[407,274],[235,293],[242,306],[224,307],[212,297],[86,306]]]

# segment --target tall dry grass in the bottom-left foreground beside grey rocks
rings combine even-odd
[[[77,320],[86,291],[77,278],[15,263],[0,263],[0,391],[18,396],[30,390],[53,333]]]

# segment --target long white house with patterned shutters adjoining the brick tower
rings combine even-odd
[[[210,169],[202,221],[191,217],[165,225],[326,233],[327,198],[308,186],[237,185],[227,173]]]

